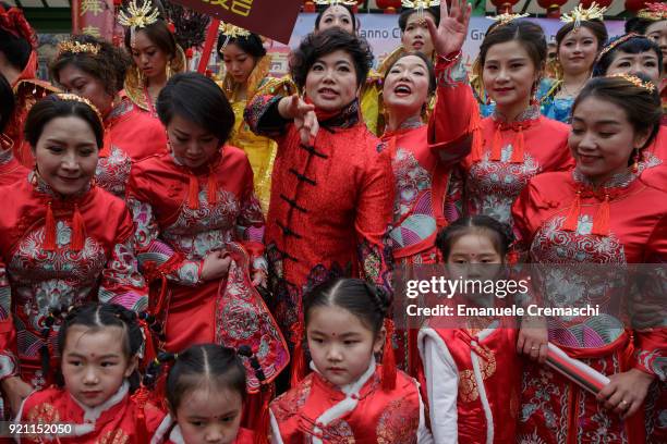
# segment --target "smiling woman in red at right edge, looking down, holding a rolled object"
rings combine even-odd
[[[589,273],[584,281],[586,289],[607,288],[598,299],[602,313],[614,300],[629,305],[628,288],[613,284],[626,264],[667,261],[667,195],[664,187],[640,180],[638,165],[659,127],[657,87],[627,74],[594,78],[574,102],[572,118],[569,146],[575,169],[533,178],[512,215],[519,246],[531,262],[607,264],[598,278]],[[545,275],[547,285],[553,278]],[[551,303],[560,296],[577,304],[580,299],[572,297],[582,297],[577,286],[583,278],[560,274],[549,287]],[[664,276],[643,280],[644,300],[651,301],[650,287],[660,282]],[[571,287],[577,293],[558,291]],[[664,288],[657,293],[664,297]],[[653,381],[665,381],[664,311],[658,323],[641,326],[627,323],[622,312],[606,311],[605,317],[549,319],[549,341],[610,382],[595,396],[547,367],[526,367],[521,442],[646,442],[645,396]]]

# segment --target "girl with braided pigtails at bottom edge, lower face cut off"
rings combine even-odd
[[[166,379],[160,371],[169,366]],[[250,373],[247,373],[250,370]],[[170,423],[155,435],[173,444],[251,444],[267,442],[267,421],[256,432],[241,427],[247,407],[247,374],[265,386],[266,378],[251,347],[239,350],[216,344],[201,344],[181,354],[161,353],[144,377],[147,388],[163,392]],[[157,391],[155,390],[156,382]],[[268,406],[264,406],[266,416]],[[159,441],[158,441],[159,442]]]

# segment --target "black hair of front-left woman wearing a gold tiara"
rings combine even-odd
[[[105,140],[105,128],[97,112],[87,103],[78,100],[62,99],[56,94],[45,97],[31,108],[23,131],[25,139],[33,148],[36,148],[47,123],[53,119],[69,118],[70,115],[85,121],[90,126],[93,134],[95,134],[97,148],[101,149]]]

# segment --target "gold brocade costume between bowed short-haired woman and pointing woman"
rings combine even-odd
[[[265,55],[257,62],[255,69],[247,78],[247,92],[245,98],[237,98],[237,89],[229,75],[226,75],[218,85],[225,91],[234,111],[234,128],[229,144],[245,151],[250,160],[254,175],[255,194],[262,203],[262,212],[266,217],[269,208],[271,193],[271,173],[278,145],[268,137],[255,135],[245,121],[243,112],[248,101],[256,95],[265,96],[290,96],[296,91],[296,87],[289,77],[269,77],[271,59]]]

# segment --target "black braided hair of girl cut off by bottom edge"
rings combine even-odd
[[[250,347],[242,348],[246,349],[239,354],[247,356]],[[160,353],[146,370],[144,384],[151,388],[161,366],[173,362],[166,386],[167,402],[172,412],[175,414],[187,392],[204,386],[204,382],[238,392],[245,400],[245,367],[239,354],[233,348],[217,344],[193,345],[178,355]]]

